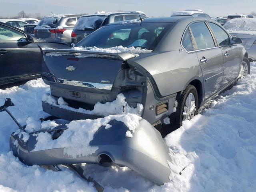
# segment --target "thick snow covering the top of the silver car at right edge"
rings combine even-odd
[[[223,27],[230,33],[256,35],[256,18],[232,19],[226,22]]]

